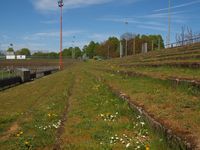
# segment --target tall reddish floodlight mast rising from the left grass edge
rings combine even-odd
[[[63,0],[58,0],[58,7],[60,7],[60,69],[63,69],[62,60],[62,7],[64,6]]]

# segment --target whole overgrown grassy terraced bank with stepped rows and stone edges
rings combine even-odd
[[[200,148],[200,44],[90,60],[0,92],[0,149]]]

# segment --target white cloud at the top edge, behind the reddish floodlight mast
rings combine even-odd
[[[31,0],[36,9],[40,11],[55,11],[58,9],[56,0]],[[79,8],[88,5],[108,3],[113,0],[64,0],[64,8]]]

